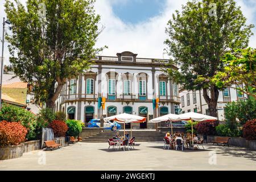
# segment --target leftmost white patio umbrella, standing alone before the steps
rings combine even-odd
[[[146,118],[138,115],[126,114],[126,113],[104,118],[104,121],[111,121],[111,120],[116,121],[118,123],[123,123],[123,135],[125,137],[125,123],[142,123],[146,121]]]

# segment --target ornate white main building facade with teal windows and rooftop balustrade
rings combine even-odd
[[[168,60],[137,58],[137,54],[126,51],[115,57],[96,56],[92,61],[88,71],[64,85],[55,111],[85,123],[121,113],[141,115],[147,122],[134,123],[133,128],[153,129],[155,124],[148,123],[149,119],[174,113],[175,105],[180,104],[177,84],[161,71]],[[106,98],[105,109],[98,97]],[[156,97],[160,99],[159,108],[153,109]]]

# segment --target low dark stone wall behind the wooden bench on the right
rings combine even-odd
[[[212,141],[218,136],[207,136],[207,142],[212,143]],[[230,137],[230,146],[249,148],[250,150],[256,150],[256,140],[246,140],[242,137]]]

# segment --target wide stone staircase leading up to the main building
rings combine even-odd
[[[131,132],[127,131],[130,134]],[[117,131],[104,130],[103,132],[88,138],[83,138],[81,142],[107,142],[109,138],[113,138]],[[119,135],[123,135],[123,131],[119,131]],[[159,142],[163,141],[165,134],[155,130],[133,130],[132,137],[135,142]]]

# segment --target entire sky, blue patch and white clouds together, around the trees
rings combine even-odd
[[[14,0],[11,0],[14,1]],[[25,4],[27,0],[19,0]],[[247,24],[256,25],[256,0],[235,0],[241,6]],[[0,0],[0,21],[5,12]],[[97,47],[108,46],[100,54],[115,56],[117,52],[131,51],[138,57],[169,59],[164,54],[165,28],[175,10],[181,10],[188,0],[96,0],[96,13],[101,15],[100,26],[104,28],[98,37]],[[0,22],[2,35],[2,22]],[[250,47],[256,48],[256,28],[250,38]],[[1,51],[0,51],[1,52]],[[6,63],[9,52],[5,44]]]

